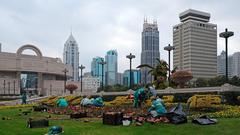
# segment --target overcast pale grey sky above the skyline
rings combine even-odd
[[[167,60],[164,46],[172,44],[172,27],[179,13],[192,8],[209,12],[218,33],[234,31],[229,54],[240,51],[239,0],[0,0],[0,42],[4,52],[16,52],[24,44],[36,45],[44,56],[62,58],[63,46],[72,28],[80,58],[90,71],[93,57],[118,52],[119,72],[129,68],[126,55],[136,55],[140,64],[143,18],[158,21],[160,57]],[[225,49],[218,38],[218,54]],[[29,53],[26,51],[25,53]]]

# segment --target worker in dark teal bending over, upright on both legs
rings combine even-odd
[[[134,92],[133,96],[134,96],[134,103],[133,103],[134,107],[136,108],[141,107],[142,102],[145,101],[146,99],[146,91],[144,88],[139,88]]]

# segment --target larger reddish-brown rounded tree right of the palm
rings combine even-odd
[[[192,77],[192,73],[185,70],[179,70],[172,74],[172,80],[177,83],[180,88],[184,88],[186,82],[190,81]]]

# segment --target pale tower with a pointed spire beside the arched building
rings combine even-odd
[[[78,44],[72,33],[64,44],[63,63],[72,67],[72,81],[79,81],[79,51]]]

